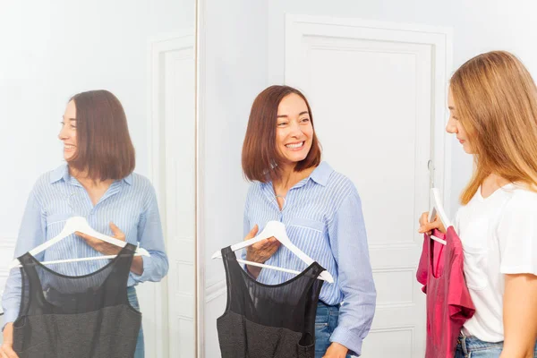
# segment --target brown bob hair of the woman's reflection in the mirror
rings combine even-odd
[[[93,180],[119,180],[136,164],[124,108],[107,90],[72,96],[76,107],[77,149],[68,164]]]

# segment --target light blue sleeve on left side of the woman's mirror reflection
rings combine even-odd
[[[29,199],[22,216],[21,228],[17,237],[13,258],[18,258],[27,251],[41,243],[47,237],[47,220],[44,216],[40,203],[35,193],[30,192]],[[43,259],[43,253],[36,255],[38,260]],[[21,307],[21,269],[12,268],[5,283],[4,294],[2,296],[2,307],[4,309],[4,327],[6,323],[13,322],[19,316]],[[4,327],[2,330],[4,330]]]

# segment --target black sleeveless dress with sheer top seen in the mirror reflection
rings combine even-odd
[[[19,357],[132,358],[141,326],[141,313],[127,298],[135,250],[127,243],[105,267],[80,277],[22,255],[21,310],[13,323]]]

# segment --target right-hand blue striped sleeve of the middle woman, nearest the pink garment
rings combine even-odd
[[[362,354],[362,341],[371,328],[377,293],[373,282],[362,203],[351,193],[328,225],[330,245],[337,261],[344,303],[331,342],[345,345],[349,354]]]

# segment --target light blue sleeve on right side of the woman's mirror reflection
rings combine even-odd
[[[145,281],[158,282],[166,276],[168,271],[168,258],[162,232],[162,223],[158,212],[157,194],[151,186],[146,209],[141,214],[138,224],[138,242],[140,246],[149,251],[149,257],[142,256],[143,272],[137,275],[131,272],[136,283]]]

